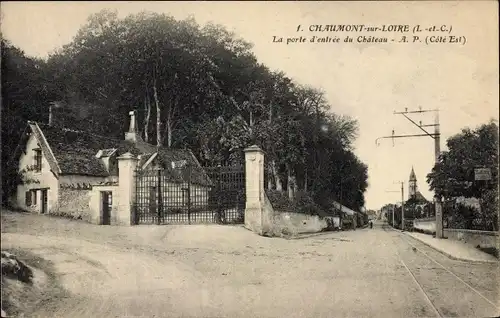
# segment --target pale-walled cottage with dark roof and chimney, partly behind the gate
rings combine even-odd
[[[131,188],[147,192],[141,200],[155,209],[172,202],[186,202],[185,183],[189,182],[190,201],[206,205],[210,178],[190,150],[158,148],[142,140],[136,131],[135,112],[123,140],[99,136],[39,122],[28,122],[16,153],[19,182],[13,203],[26,211],[69,215],[93,223],[113,223],[118,185],[134,183]],[[119,157],[137,158],[134,174],[120,180]],[[184,171],[189,167],[189,174]],[[151,171],[159,171],[153,173]],[[156,177],[158,176],[159,177]],[[187,180],[189,178],[189,180]],[[160,185],[160,187],[158,187]],[[108,220],[92,214],[97,192],[106,207]],[[183,197],[184,196],[184,197]],[[151,211],[155,213],[155,211]],[[111,214],[111,215],[109,215]]]

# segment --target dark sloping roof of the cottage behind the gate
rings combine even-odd
[[[47,124],[29,122],[32,132],[39,140],[42,151],[47,154],[52,171],[56,174],[106,177],[110,173],[100,157],[120,156],[126,152],[139,157],[138,167],[158,153],[158,163],[165,168],[166,176],[178,177],[172,172],[171,162],[185,160],[192,167],[193,182],[209,184],[206,175],[193,153],[188,149],[157,148],[142,140],[136,142],[100,136],[88,131],[77,131]]]

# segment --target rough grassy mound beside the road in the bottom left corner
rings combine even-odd
[[[11,253],[33,271],[32,279],[2,273],[2,309],[8,317],[31,317],[36,308],[67,297],[58,283],[52,262],[22,249],[2,250]],[[41,279],[45,278],[45,279]]]

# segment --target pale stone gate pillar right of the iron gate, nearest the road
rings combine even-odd
[[[256,145],[245,149],[245,227],[263,234],[264,152]]]

